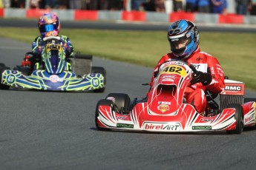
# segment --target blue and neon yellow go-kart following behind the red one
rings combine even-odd
[[[69,56],[67,61],[61,38],[43,39],[43,67],[37,67],[27,75],[26,69],[12,70],[0,64],[0,89],[22,88],[45,91],[104,92],[106,71],[103,67],[91,67],[92,55]],[[79,73],[79,74],[78,74]]]

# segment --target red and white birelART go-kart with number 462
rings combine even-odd
[[[131,101],[127,94],[111,93],[96,105],[99,130],[122,129],[150,132],[214,132],[240,134],[255,126],[255,98],[244,98],[244,84],[225,80],[219,103],[206,92],[210,109],[200,115],[183,99],[186,86],[197,72],[192,64],[168,61],[160,67],[145,98]]]

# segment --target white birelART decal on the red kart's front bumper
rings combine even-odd
[[[181,128],[180,123],[144,123],[143,129],[145,130],[168,130],[179,131]]]

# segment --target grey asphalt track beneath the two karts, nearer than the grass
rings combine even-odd
[[[13,68],[30,44],[0,39]],[[256,131],[157,134],[100,132],[96,102],[110,92],[144,96],[153,69],[93,58],[107,70],[102,94],[0,90],[0,169],[255,169]],[[249,97],[256,96],[247,92]]]

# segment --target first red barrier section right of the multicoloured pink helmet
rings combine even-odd
[[[98,20],[97,10],[75,10],[74,20]]]

